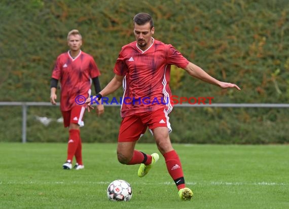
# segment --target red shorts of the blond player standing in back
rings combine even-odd
[[[61,111],[64,127],[68,127],[70,123],[76,123],[80,127],[84,126],[82,121],[84,111],[85,107],[81,105],[76,105],[69,111]]]

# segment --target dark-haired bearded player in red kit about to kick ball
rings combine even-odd
[[[138,176],[147,175],[158,161],[159,155],[149,155],[134,148],[139,137],[149,127],[158,150],[165,159],[169,175],[176,184],[178,196],[183,200],[190,200],[193,192],[186,187],[182,164],[169,138],[171,127],[168,114],[173,106],[169,100],[170,66],[173,64],[183,68],[190,76],[221,88],[240,88],[236,84],[212,78],[172,45],[154,39],[152,36],[155,27],[149,14],[139,13],[133,20],[136,41],[122,47],[114,67],[115,77],[96,97],[86,100],[88,110],[92,108],[93,102],[123,85],[123,98],[131,100],[126,99],[121,108],[123,120],[117,146],[119,162],[127,165],[140,164]]]

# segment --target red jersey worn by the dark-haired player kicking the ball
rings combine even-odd
[[[173,107],[170,66],[185,68],[189,61],[172,45],[153,39],[146,50],[138,48],[136,41],[125,45],[119,54],[114,73],[124,76],[121,116]]]

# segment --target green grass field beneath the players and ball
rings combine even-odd
[[[156,152],[154,144],[137,149]],[[85,169],[63,170],[66,144],[0,143],[0,208],[289,208],[289,146],[174,145],[192,201],[178,199],[163,157],[144,178],[117,161],[116,144],[84,144]],[[132,186],[112,202],[116,179]]]

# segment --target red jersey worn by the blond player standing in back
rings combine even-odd
[[[91,94],[91,78],[99,75],[91,55],[83,51],[75,58],[70,56],[69,51],[60,54],[52,72],[52,78],[60,81],[60,110],[69,111],[76,106],[76,96],[88,98]]]

